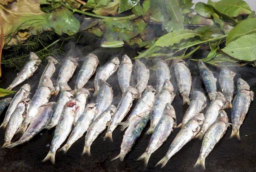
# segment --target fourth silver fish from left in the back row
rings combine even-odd
[[[85,57],[84,63],[76,78],[76,85],[74,89],[74,95],[77,95],[79,89],[87,83],[90,77],[95,73],[96,68],[99,64],[99,59],[95,54],[88,54]]]

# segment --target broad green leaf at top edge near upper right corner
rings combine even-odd
[[[251,14],[249,5],[243,0],[220,0],[214,3],[214,8],[230,17],[237,17],[241,14]]]

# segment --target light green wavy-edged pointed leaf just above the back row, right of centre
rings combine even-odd
[[[162,37],[160,37],[155,45],[156,46],[173,46],[175,43],[180,43],[180,40],[182,39],[188,39],[190,37],[195,37],[199,36],[202,37],[201,34],[198,34],[198,32],[189,30],[189,29],[184,29],[184,30],[178,30],[178,31],[173,31],[169,34],[165,34]]]

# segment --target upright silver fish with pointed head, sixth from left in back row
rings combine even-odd
[[[124,94],[130,86],[132,66],[131,59],[125,54],[122,57],[122,61],[117,72],[118,82],[122,90],[122,94]]]

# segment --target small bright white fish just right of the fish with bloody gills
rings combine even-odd
[[[79,106],[79,110],[76,112],[74,126],[76,125],[76,121],[80,118],[80,116],[84,112],[85,104],[87,103],[88,97],[90,97],[90,92],[88,89],[85,89],[85,88],[79,89],[76,95],[76,105]]]

